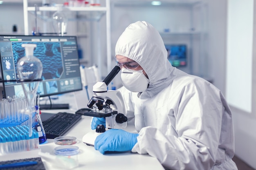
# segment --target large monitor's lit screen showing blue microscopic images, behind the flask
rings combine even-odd
[[[0,35],[3,97],[24,95],[20,83],[8,82],[18,80],[16,65],[25,56],[21,44],[36,44],[34,56],[43,64],[37,94],[44,97],[82,90],[75,36]]]

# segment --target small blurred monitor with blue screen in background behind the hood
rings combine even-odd
[[[186,66],[187,64],[187,49],[185,44],[165,44],[168,52],[168,60],[172,66]]]

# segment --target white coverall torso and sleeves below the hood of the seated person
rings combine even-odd
[[[200,77],[173,72],[173,82],[153,97],[141,100],[124,86],[119,89],[134,106],[126,107],[135,113],[139,132],[132,151],[175,170],[236,170],[232,116],[222,93]]]

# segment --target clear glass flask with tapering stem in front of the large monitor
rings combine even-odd
[[[21,44],[25,48],[25,56],[21,57],[17,63],[18,79],[27,99],[27,107],[24,110],[26,115],[29,115],[29,137],[32,135],[32,117],[36,113],[34,101],[39,81],[43,72],[43,65],[41,61],[34,57],[34,48],[36,44]]]

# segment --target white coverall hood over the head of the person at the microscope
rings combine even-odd
[[[154,96],[175,78],[176,68],[167,60],[162,37],[148,22],[130,24],[117,40],[115,55],[128,57],[144,69],[149,79],[144,96]]]

